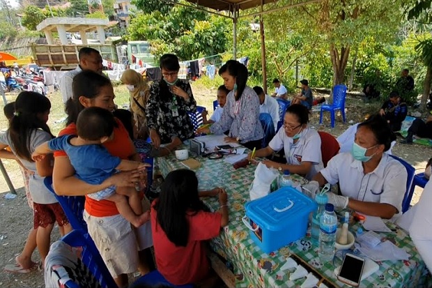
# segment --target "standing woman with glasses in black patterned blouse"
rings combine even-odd
[[[178,79],[180,64],[173,54],[160,57],[163,79],[153,82],[146,106],[147,126],[156,149],[160,144],[178,146],[194,136],[187,112],[196,112],[196,102],[189,82]]]

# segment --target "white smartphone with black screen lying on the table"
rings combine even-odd
[[[358,287],[362,280],[363,267],[364,259],[362,257],[346,253],[337,279],[350,286]]]

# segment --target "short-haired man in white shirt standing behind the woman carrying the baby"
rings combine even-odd
[[[60,92],[63,103],[72,98],[72,80],[82,70],[91,70],[95,73],[102,74],[102,56],[98,50],[91,47],[82,47],[78,53],[79,64],[74,70],[66,72],[60,78]]]

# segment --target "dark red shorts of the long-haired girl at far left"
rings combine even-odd
[[[60,227],[69,223],[63,209],[59,203],[38,204],[33,202],[34,216],[33,228],[47,227],[50,224],[57,222]]]

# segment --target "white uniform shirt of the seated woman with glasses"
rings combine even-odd
[[[300,165],[302,162],[312,162],[311,171],[306,175],[306,179],[311,180],[324,167],[321,158],[321,137],[316,130],[306,128],[301,132],[298,142],[294,144],[293,141],[293,138],[286,136],[285,129],[281,128],[268,146],[273,151],[284,148],[288,164]]]

